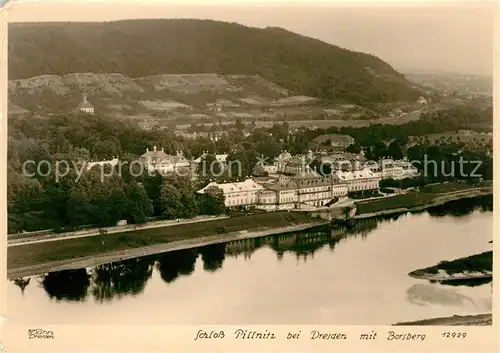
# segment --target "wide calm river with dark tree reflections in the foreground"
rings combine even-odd
[[[8,284],[8,316],[46,324],[386,325],[491,312],[491,283],[415,269],[491,250],[491,198],[418,214],[137,258]]]

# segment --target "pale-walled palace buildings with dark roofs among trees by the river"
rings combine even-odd
[[[207,152],[203,152],[197,159],[188,160],[182,152],[169,155],[163,148],[154,146],[152,150],[147,149],[139,160],[148,170],[169,174],[181,173],[183,170],[196,171],[207,155]],[[228,154],[217,154],[214,159],[222,168],[228,165]],[[112,161],[93,162],[93,165],[107,162],[116,165],[117,161],[115,158]],[[317,167],[322,163],[330,166],[328,175],[318,173]],[[280,211],[329,206],[345,200],[351,192],[378,190],[382,179],[404,179],[417,175],[417,170],[405,161],[384,159],[374,162],[367,161],[362,154],[326,155],[312,151],[299,156],[283,151],[272,164],[261,165],[260,168],[266,172],[265,175],[241,182],[210,182],[198,193],[217,187],[222,190],[228,208],[255,207]]]

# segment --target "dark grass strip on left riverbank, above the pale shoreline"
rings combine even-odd
[[[149,245],[196,240],[239,231],[263,231],[299,224],[314,224],[317,220],[300,212],[263,213],[238,216],[210,222],[179,224],[165,228],[107,234],[7,248],[8,270],[62,260],[97,256]],[[104,240],[104,243],[102,241]]]

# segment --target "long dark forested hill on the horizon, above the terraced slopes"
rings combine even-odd
[[[177,19],[10,24],[9,79],[78,72],[258,74],[298,94],[358,104],[419,95],[373,55],[280,28]]]

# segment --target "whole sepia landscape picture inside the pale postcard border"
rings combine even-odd
[[[4,1],[9,320],[491,326],[494,6]]]

